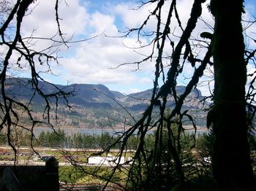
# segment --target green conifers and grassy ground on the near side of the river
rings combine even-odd
[[[171,187],[178,186],[176,185],[178,176],[176,172],[175,162],[172,157],[169,160],[167,155],[167,131],[163,133],[162,137],[162,148],[154,147],[154,138],[155,133],[148,134],[145,136],[145,143],[147,151],[150,155],[154,149],[157,149],[157,155],[161,156],[162,166],[159,166],[159,171],[162,171],[161,176],[156,176],[157,179],[154,181],[161,182],[162,187],[165,189],[170,189]],[[175,133],[175,132],[174,132]],[[20,134],[20,137],[24,137],[20,139],[20,147],[29,146],[26,144],[26,139],[29,135]],[[178,136],[178,132],[176,132],[176,136]],[[182,170],[184,171],[184,175],[189,179],[188,184],[183,185],[182,187],[186,187],[188,189],[195,190],[214,190],[216,188],[216,184],[214,182],[212,171],[211,171],[211,147],[214,141],[214,136],[211,131],[208,133],[197,134],[194,135],[192,133],[182,133],[180,141],[175,141],[173,144],[176,145],[177,149],[180,149],[181,162],[182,162]],[[88,158],[95,155],[120,155],[120,145],[116,145],[116,147],[112,147],[112,149],[116,148],[113,152],[110,150],[108,153],[100,152],[101,150],[108,147],[110,144],[114,144],[118,139],[117,135],[110,135],[109,133],[102,133],[101,135],[86,135],[77,133],[72,136],[67,136],[64,133],[64,130],[57,130],[56,132],[47,132],[40,133],[37,140],[37,147],[49,147],[49,150],[40,150],[35,148],[35,150],[42,155],[52,155],[56,157],[60,163],[67,163],[69,165],[60,165],[59,166],[59,181],[64,185],[77,185],[77,184],[100,184],[105,185],[107,182],[112,186],[117,186],[120,189],[122,187],[133,187],[136,189],[136,180],[139,176],[144,176],[147,174],[148,170],[146,168],[146,163],[142,163],[141,161],[134,160],[134,166],[131,165],[119,165],[118,171],[115,166],[106,166],[106,165],[89,165]],[[251,158],[254,160],[253,167],[254,172],[256,172],[255,165],[255,141],[256,137],[252,136],[251,140]],[[129,141],[127,141],[127,149],[135,149],[137,147],[137,136],[131,136]],[[4,139],[1,139],[1,145],[6,145],[7,142]],[[69,151],[68,147],[77,148],[77,150]],[[56,148],[56,150],[51,151],[50,148]],[[59,148],[59,149],[58,149]],[[66,149],[65,149],[66,148]],[[97,151],[89,151],[89,149],[100,149]],[[28,153],[29,150],[26,150],[23,153]],[[20,153],[20,152],[19,152]],[[31,152],[31,155],[33,152]],[[18,160],[28,160],[31,158],[31,155],[28,156],[19,156]],[[134,157],[135,152],[127,152],[127,157]],[[13,160],[13,154],[1,155],[1,159],[4,160]],[[38,160],[42,161],[42,160]],[[130,161],[132,162],[132,161]],[[168,166],[168,167],[167,167]],[[161,169],[162,168],[162,169]],[[171,171],[165,171],[166,168],[170,168]],[[113,173],[114,172],[114,173]],[[112,174],[113,173],[113,174]],[[129,176],[129,179],[128,179]],[[133,177],[131,179],[131,177]],[[144,179],[144,178],[143,178]],[[145,184],[146,179],[144,179]],[[118,184],[113,183],[118,182]],[[142,185],[140,185],[142,186]],[[122,190],[122,189],[121,189]]]

